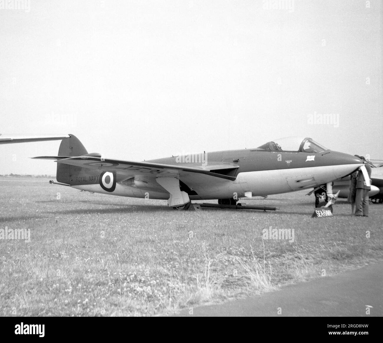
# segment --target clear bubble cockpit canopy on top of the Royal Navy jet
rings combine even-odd
[[[267,142],[257,148],[257,150],[264,151],[294,151],[294,152],[304,152],[304,153],[321,153],[328,150],[319,143],[316,143],[311,138],[302,138],[302,137],[285,137],[280,139],[275,139],[274,141]]]

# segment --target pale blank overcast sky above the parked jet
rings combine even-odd
[[[23,3],[0,2],[3,136],[141,161],[299,135],[383,159],[378,0]],[[28,157],[59,144],[0,145],[0,174],[55,174]]]

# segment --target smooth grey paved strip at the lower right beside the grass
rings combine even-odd
[[[366,305],[370,315],[366,315]],[[282,287],[276,292],[225,304],[193,308],[193,317],[211,316],[277,316],[277,308],[284,317],[376,317],[383,316],[383,263],[331,277]],[[189,309],[180,316],[191,317]]]

